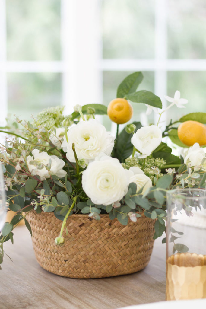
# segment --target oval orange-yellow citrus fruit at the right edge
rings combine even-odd
[[[206,126],[198,121],[188,120],[181,123],[177,130],[178,137],[183,144],[192,146],[198,143],[206,145]]]

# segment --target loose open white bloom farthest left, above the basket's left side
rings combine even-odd
[[[47,152],[40,152],[38,149],[32,151],[33,156],[27,157],[27,166],[31,174],[40,176],[40,180],[49,178],[50,175],[56,175],[59,178],[62,178],[66,175],[66,172],[62,169],[65,165],[65,162],[59,159],[56,155],[48,155]],[[49,163],[51,160],[51,168],[48,172],[45,167],[39,169],[38,164],[43,164],[44,166]],[[35,161],[34,164],[31,164],[31,161]]]

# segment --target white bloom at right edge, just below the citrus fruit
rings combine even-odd
[[[204,149],[201,148],[198,143],[195,143],[189,148],[184,163],[187,164],[188,167],[199,166],[203,170],[206,170],[206,155]]]

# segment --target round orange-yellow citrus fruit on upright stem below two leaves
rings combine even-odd
[[[122,98],[112,100],[107,107],[107,115],[111,121],[116,122],[118,125],[129,121],[132,114],[132,105]]]

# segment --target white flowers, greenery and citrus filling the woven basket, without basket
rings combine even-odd
[[[206,144],[206,135],[201,141],[199,135],[192,141],[191,133],[190,145],[184,128],[179,130],[177,124],[192,121],[205,133],[206,113],[187,114],[162,129],[160,120],[165,110],[161,99],[150,91],[137,91],[142,79],[141,72],[127,76],[108,107],[77,105],[69,116],[63,115],[64,107],[48,108],[32,121],[16,118],[12,125],[0,130],[8,134],[5,145],[0,147],[0,162],[8,211],[15,212],[1,231],[1,262],[3,243],[9,239],[13,242],[13,229],[21,220],[32,234],[26,219],[31,211],[53,212],[62,221],[60,235],[54,239],[57,245],[65,242],[66,223],[72,214],[85,214],[95,220],[108,214],[122,225],[127,225],[128,220],[137,224],[137,217],[144,215],[155,220],[156,239],[165,231],[166,191],[205,188],[206,156],[200,146]],[[174,98],[165,98],[171,103],[166,110],[187,104],[179,91]],[[158,113],[157,124],[142,126],[134,121],[119,132],[119,125],[132,117],[130,102],[144,103],[146,114]],[[108,115],[116,122],[116,137],[95,119],[96,115]],[[166,137],[186,147],[180,157],[163,142]],[[191,210],[185,211],[190,215]]]

